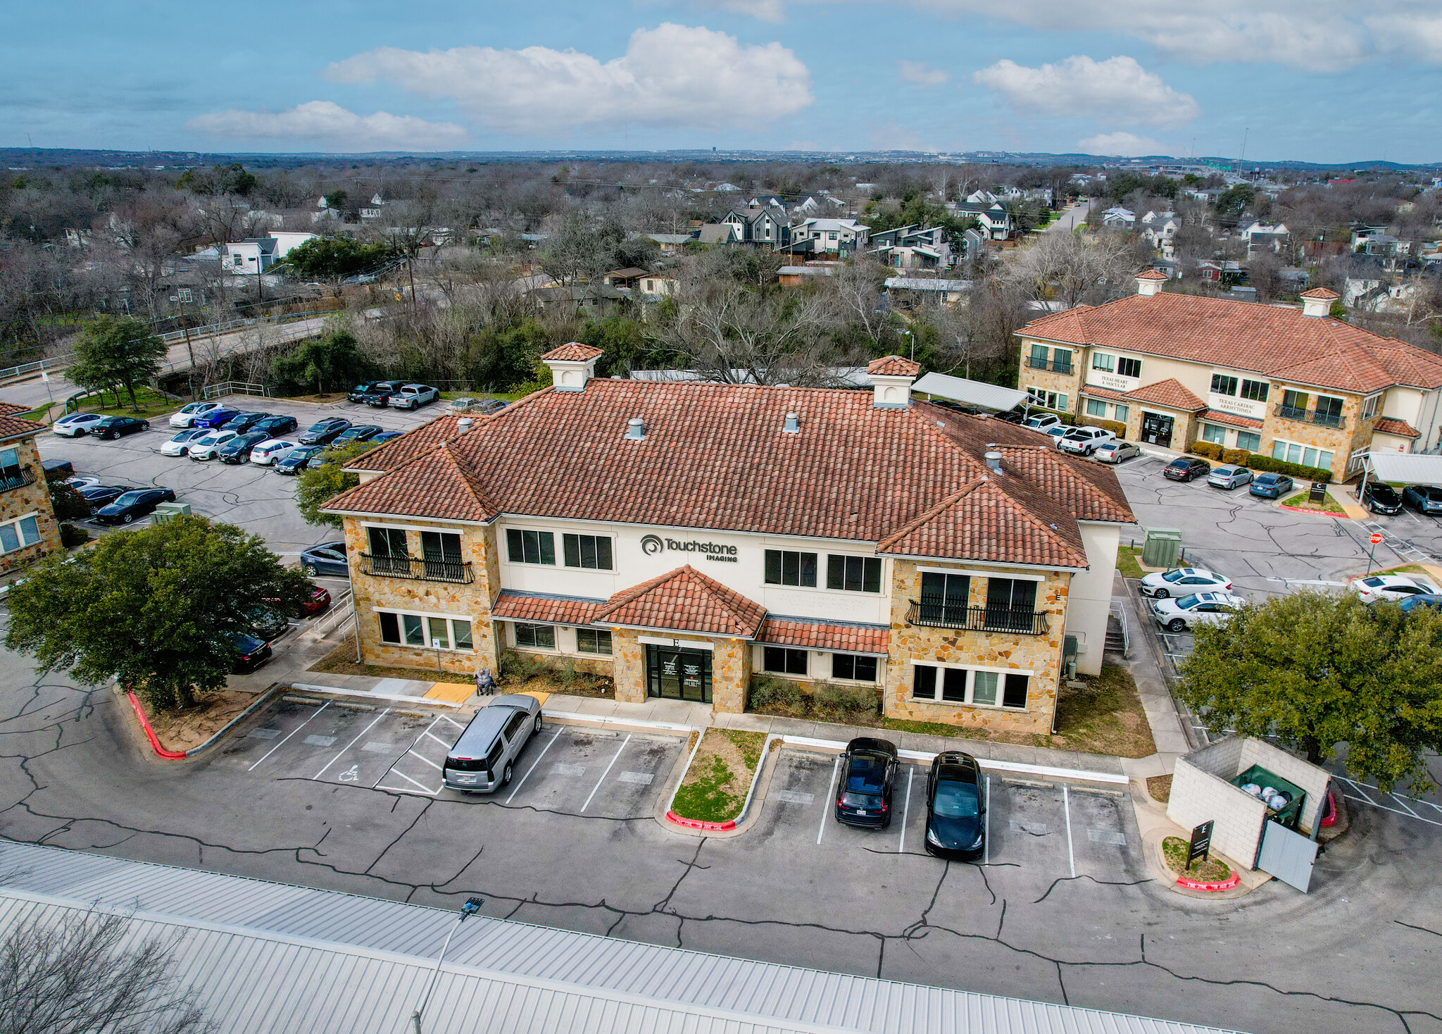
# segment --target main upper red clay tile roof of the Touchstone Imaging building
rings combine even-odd
[[[800,414],[800,434],[782,431],[787,412]],[[646,420],[643,441],[623,437],[632,417]],[[443,441],[453,466],[428,459]],[[584,392],[538,391],[476,420],[466,434],[456,433],[454,417],[417,428],[356,460],[385,473],[327,509],[435,519],[508,513],[878,542],[983,477],[983,456],[1001,443],[1048,438],[924,402],[880,410],[861,391],[603,379]],[[1001,539],[978,545],[978,557],[1045,562],[1051,552],[1027,552],[1031,532],[1009,532],[1034,521],[1074,532],[1076,519],[1133,519],[1115,473],[1066,479],[1053,470],[1057,461],[1073,473],[1094,466],[1060,456],[1017,461],[1015,476],[1001,479],[1009,502],[998,502],[1012,519]],[[459,470],[472,472],[470,480],[461,483]],[[1040,490],[1027,490],[1032,470],[1045,482]]]

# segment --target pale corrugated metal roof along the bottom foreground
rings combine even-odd
[[[177,976],[221,1031],[401,1031],[456,911],[0,842],[0,936],[29,914],[133,911],[130,937],[183,934]],[[427,1034],[1206,1034],[1211,1027],[731,959],[476,917]]]

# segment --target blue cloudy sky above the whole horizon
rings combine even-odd
[[[1438,0],[52,0],[0,146],[1442,160]]]

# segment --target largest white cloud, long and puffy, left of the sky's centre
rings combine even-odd
[[[626,53],[606,63],[545,46],[384,46],[333,63],[326,75],[454,98],[485,125],[528,136],[564,136],[597,123],[754,125],[812,102],[810,71],[780,43],[741,46],[724,32],[672,23],[637,29]]]

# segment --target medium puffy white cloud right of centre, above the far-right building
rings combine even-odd
[[[1168,87],[1135,58],[1093,61],[1076,55],[1041,68],[998,61],[972,78],[1004,94],[1011,107],[1045,115],[1094,115],[1177,128],[1201,114],[1193,97]]]

